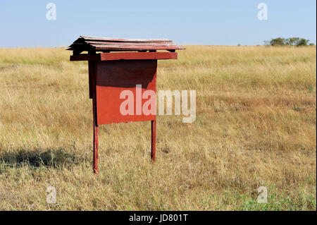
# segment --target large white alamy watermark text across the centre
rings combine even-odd
[[[145,90],[142,93],[142,85],[136,85],[135,96],[131,90],[123,90],[120,92],[120,99],[125,99],[120,104],[120,114],[123,116],[156,115],[156,92],[154,90]],[[173,92],[159,90],[159,115],[165,115],[165,109],[166,115],[173,114],[173,99],[174,114],[180,115],[182,111],[183,123],[194,122],[196,119],[196,90],[189,90],[189,104],[187,90],[182,90],[181,94],[178,90]]]

